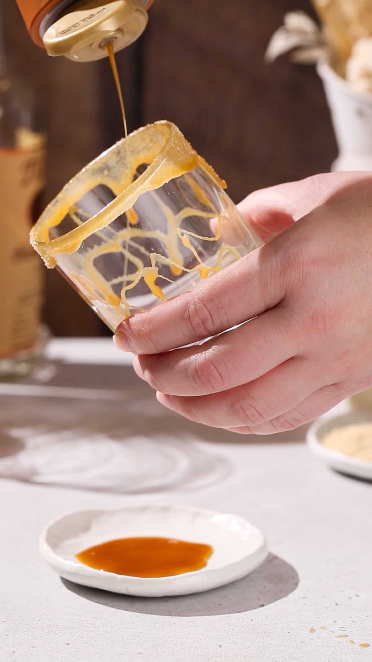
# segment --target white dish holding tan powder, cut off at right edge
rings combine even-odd
[[[372,414],[362,411],[353,411],[348,414],[340,414],[333,418],[319,418],[313,423],[307,431],[307,444],[311,451],[318,455],[332,469],[342,471],[358,478],[372,480],[372,462],[358,459],[357,457],[350,457],[344,455],[339,451],[334,451],[330,448],[323,446],[322,439],[328,432],[332,432],[334,428],[342,428],[346,425],[354,425],[358,423],[371,423]]]

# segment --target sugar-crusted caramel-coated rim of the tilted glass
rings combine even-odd
[[[118,195],[98,213],[85,220],[81,226],[77,226],[54,239],[47,238],[50,228],[57,226],[77,201],[93,190],[94,185],[92,186],[91,175],[96,169],[102,167],[102,165],[104,166],[105,162],[118,156],[123,146],[126,146],[127,138],[122,138],[122,140],[116,142],[81,169],[49,203],[30,232],[30,243],[47,267],[52,268],[56,265],[54,258],[56,254],[71,255],[79,250],[86,238],[92,236],[98,230],[102,230],[118,216],[131,209],[139,195],[159,189],[171,179],[189,173],[198,166],[203,167],[213,177],[217,185],[223,189],[226,188],[225,181],[218,177],[202,156],[198,155],[178,127],[168,120],[159,120],[131,132],[128,135],[128,149],[130,150],[131,144],[139,144],[138,138],[147,137],[151,141],[151,134],[153,134],[153,140],[157,138],[159,141],[159,151],[151,159],[145,171],[131,182],[129,182],[126,173],[120,182],[122,190]],[[133,150],[129,154],[133,155]],[[130,158],[132,158],[133,164],[131,164],[128,171],[133,176],[133,167],[136,166],[135,171],[146,161],[145,153],[139,150],[137,157],[134,152],[134,156],[130,156]],[[112,189],[112,181],[104,181],[103,175],[100,179],[102,179],[99,182],[100,185],[107,184]],[[96,185],[99,184],[96,183]]]

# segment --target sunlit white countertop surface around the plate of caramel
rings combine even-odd
[[[50,352],[81,364],[83,387],[84,363],[120,361],[130,369],[110,339],[58,340]],[[45,524],[129,497],[2,480],[1,662],[372,660],[372,484],[322,465],[303,430],[210,438],[233,465],[229,477],[197,492],[148,498],[238,512],[268,538],[268,561],[233,585],[180,598],[128,598],[63,583],[38,553]]]

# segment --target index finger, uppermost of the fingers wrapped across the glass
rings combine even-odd
[[[191,292],[125,320],[115,342],[135,354],[167,352],[246,322],[276,306],[284,293],[279,261],[263,246]]]

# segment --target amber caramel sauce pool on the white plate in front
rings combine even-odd
[[[81,551],[75,558],[96,570],[130,577],[171,577],[207,565],[213,547],[174,538],[118,538]]]

